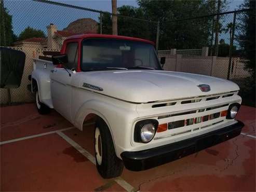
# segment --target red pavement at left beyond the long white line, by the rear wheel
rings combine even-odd
[[[54,110],[40,115],[35,104],[1,107],[0,112],[1,142],[73,126]]]

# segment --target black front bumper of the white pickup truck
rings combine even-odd
[[[234,125],[195,136],[187,140],[138,152],[123,152],[121,157],[128,170],[142,171],[232,139],[241,133],[242,127],[244,127],[244,124],[238,121]]]

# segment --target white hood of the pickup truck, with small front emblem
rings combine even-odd
[[[79,87],[110,97],[133,102],[147,103],[162,100],[190,98],[237,91],[231,81],[211,76],[153,70],[98,71],[79,73]],[[103,90],[85,87],[92,85]],[[198,85],[207,84],[211,90],[202,92]]]

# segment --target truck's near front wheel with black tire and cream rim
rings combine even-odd
[[[116,156],[109,127],[100,118],[95,126],[95,157],[97,170],[104,179],[118,177],[122,174],[123,161]]]

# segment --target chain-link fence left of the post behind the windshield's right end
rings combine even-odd
[[[115,16],[118,35],[156,41],[157,22]],[[10,29],[1,33],[1,46],[22,50],[26,60],[21,86],[1,89],[1,104],[33,101],[33,95],[27,89],[31,83],[28,76],[33,70],[32,58],[43,56],[44,51],[60,51],[63,40],[75,34],[112,34],[112,17],[109,12],[52,1],[2,0],[1,27],[10,25]]]

